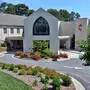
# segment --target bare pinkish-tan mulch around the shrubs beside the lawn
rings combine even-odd
[[[40,78],[39,77],[31,76],[31,75],[18,75],[18,74],[15,74],[15,73],[11,72],[11,71],[2,70],[2,69],[1,69],[1,71],[5,72],[5,73],[8,73],[8,74],[10,74],[11,76],[13,76],[13,77],[15,77],[17,79],[20,79],[20,80],[24,81],[29,86],[32,86],[33,82],[35,80],[37,80],[38,84],[36,86],[34,86],[34,87],[32,86],[32,88],[34,90],[42,90],[42,87],[44,86],[44,84],[42,84],[40,82]],[[52,89],[50,88],[48,90],[52,90]],[[73,84],[71,84],[69,87],[61,86],[61,90],[75,90],[75,87],[74,87]]]

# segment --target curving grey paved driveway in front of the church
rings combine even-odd
[[[38,65],[42,67],[55,69],[57,71],[62,71],[79,80],[85,86],[86,90],[90,90],[90,66],[84,66],[84,62],[79,59],[72,59],[69,61],[61,62],[36,62],[33,60],[16,59],[13,58],[12,55],[13,54],[5,54],[4,56],[1,56],[0,62],[25,65]]]

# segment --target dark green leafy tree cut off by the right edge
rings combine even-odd
[[[85,53],[81,59],[84,60],[87,65],[90,65],[90,29],[88,30],[87,45],[85,47]]]

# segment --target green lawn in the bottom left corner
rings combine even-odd
[[[0,71],[0,90],[32,90],[24,82]]]

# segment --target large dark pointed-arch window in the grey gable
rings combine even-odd
[[[49,24],[43,18],[39,17],[33,25],[33,35],[49,35]]]

